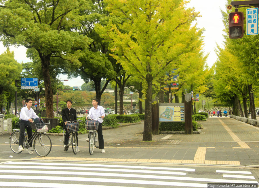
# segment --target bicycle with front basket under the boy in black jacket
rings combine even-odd
[[[72,145],[72,150],[75,155],[77,154],[77,147],[78,147],[78,142],[77,142],[77,137],[76,137],[75,132],[79,131],[79,121],[81,121],[81,120],[67,121],[67,123],[66,123],[66,129],[69,133],[69,139],[68,139],[67,146],[69,148],[70,144]],[[63,144],[65,143],[65,134],[63,134],[62,142],[63,142]]]

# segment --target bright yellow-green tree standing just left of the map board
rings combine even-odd
[[[106,0],[111,16],[122,19],[116,25],[110,20],[105,27],[96,25],[98,33],[107,42],[112,56],[128,74],[142,82],[145,95],[145,122],[143,140],[152,140],[151,104],[152,86],[156,80],[175,68],[192,46],[186,43],[191,23],[197,13],[187,9],[182,0]]]

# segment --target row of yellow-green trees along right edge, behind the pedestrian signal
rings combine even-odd
[[[230,4],[230,1],[228,3]],[[239,11],[246,14],[245,8],[239,8]],[[244,113],[245,117],[248,117],[249,101],[251,117],[256,119],[254,97],[258,96],[259,91],[259,36],[244,35],[241,39],[229,39],[228,14],[230,12],[222,11],[226,35],[224,48],[218,46],[216,50],[218,54],[214,77],[216,98],[228,106],[233,106],[234,115],[243,116]]]

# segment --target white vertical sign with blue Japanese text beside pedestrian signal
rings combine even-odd
[[[246,9],[246,35],[258,35],[258,8]]]

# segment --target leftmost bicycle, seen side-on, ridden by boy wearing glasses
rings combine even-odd
[[[46,123],[36,123],[36,131],[33,133],[31,138],[27,138],[27,133],[24,131],[24,141],[23,141],[23,148],[28,149],[30,147],[30,144],[32,144],[33,140],[33,148],[35,152],[41,156],[45,157],[50,153],[50,150],[52,148],[52,142],[48,135],[44,134],[44,132],[47,132],[48,129],[45,129],[48,127],[48,124]],[[21,153],[22,151],[19,151],[19,136],[20,136],[20,129],[13,129],[13,132],[10,135],[10,147],[11,150],[14,153]],[[8,143],[8,142],[7,142]]]

